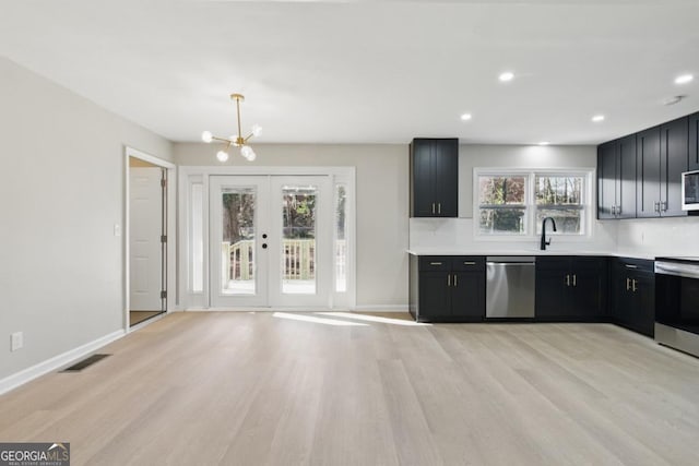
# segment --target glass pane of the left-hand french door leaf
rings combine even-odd
[[[221,292],[254,295],[254,188],[223,188]]]

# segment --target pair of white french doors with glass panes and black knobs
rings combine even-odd
[[[211,306],[324,307],[332,286],[328,176],[211,176]]]

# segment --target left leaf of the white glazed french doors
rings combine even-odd
[[[210,288],[214,308],[268,306],[269,177],[210,178]]]

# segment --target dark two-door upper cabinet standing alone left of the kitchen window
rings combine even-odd
[[[459,216],[459,140],[411,143],[411,216]]]

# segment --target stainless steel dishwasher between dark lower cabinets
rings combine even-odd
[[[486,318],[533,318],[534,256],[486,258]]]

